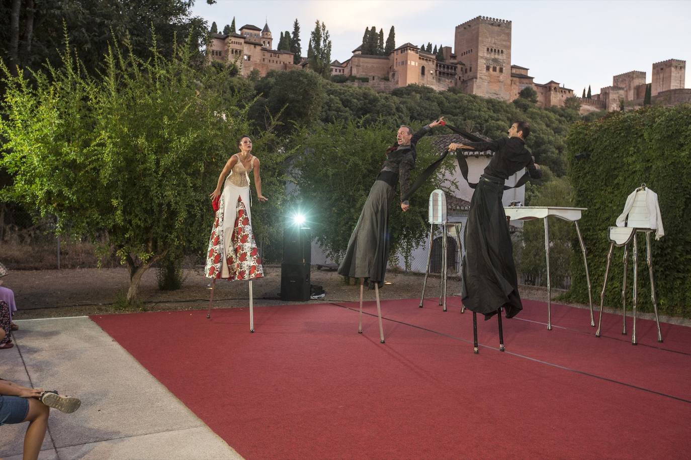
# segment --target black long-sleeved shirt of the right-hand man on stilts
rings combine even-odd
[[[525,148],[525,141],[520,137],[500,137],[489,142],[464,142],[466,146],[477,148],[479,152],[492,150],[494,156],[484,173],[507,180],[523,168],[533,179],[540,179],[542,171],[535,167],[535,159],[530,150]]]

